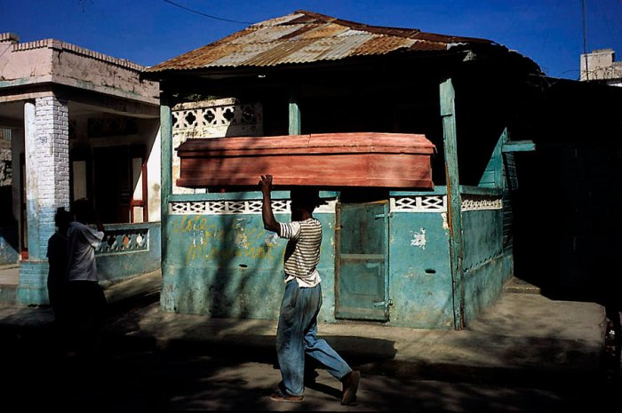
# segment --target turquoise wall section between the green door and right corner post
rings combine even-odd
[[[453,328],[449,230],[443,214],[395,212],[389,232],[390,324]]]

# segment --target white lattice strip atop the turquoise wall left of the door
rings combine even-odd
[[[315,209],[316,213],[334,213],[336,200],[328,201]],[[176,201],[169,203],[171,215],[228,215],[228,214],[260,214],[262,202],[260,200],[244,201]],[[272,211],[275,214],[290,213],[289,200],[275,200],[272,202]]]

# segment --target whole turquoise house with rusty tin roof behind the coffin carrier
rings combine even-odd
[[[260,192],[179,186],[185,141],[415,133],[437,149],[433,188],[323,188],[320,318],[464,328],[514,274],[513,155],[530,150],[514,114],[532,75],[534,62],[486,39],[306,11],[149,68],[162,89],[163,310],[276,319],[283,291],[285,242],[263,229]]]

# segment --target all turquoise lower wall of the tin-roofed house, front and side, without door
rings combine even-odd
[[[443,197],[443,188],[432,195]],[[204,196],[204,201],[219,200],[218,195]],[[223,198],[231,199],[227,196]],[[257,202],[257,195],[251,196],[252,199],[248,196],[251,195],[244,199]],[[196,202],[202,196],[179,195],[176,202],[181,198]],[[314,215],[323,223],[318,267],[323,279],[323,308],[319,319],[337,322],[334,317],[336,217],[334,213]],[[275,216],[282,222],[290,220],[289,213]],[[471,320],[498,298],[511,274],[511,259],[503,255],[502,210],[465,211],[463,220],[465,318]],[[166,222],[163,311],[218,318],[278,318],[286,241],[263,229],[259,213],[171,214]],[[391,213],[388,296],[392,305],[388,325],[454,328],[449,237],[447,214],[442,208]]]

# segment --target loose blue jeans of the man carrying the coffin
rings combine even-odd
[[[347,362],[317,334],[317,314],[322,307],[322,287],[300,288],[296,280],[285,284],[276,330],[276,355],[283,377],[283,393],[304,393],[305,353],[341,380],[352,371]]]

